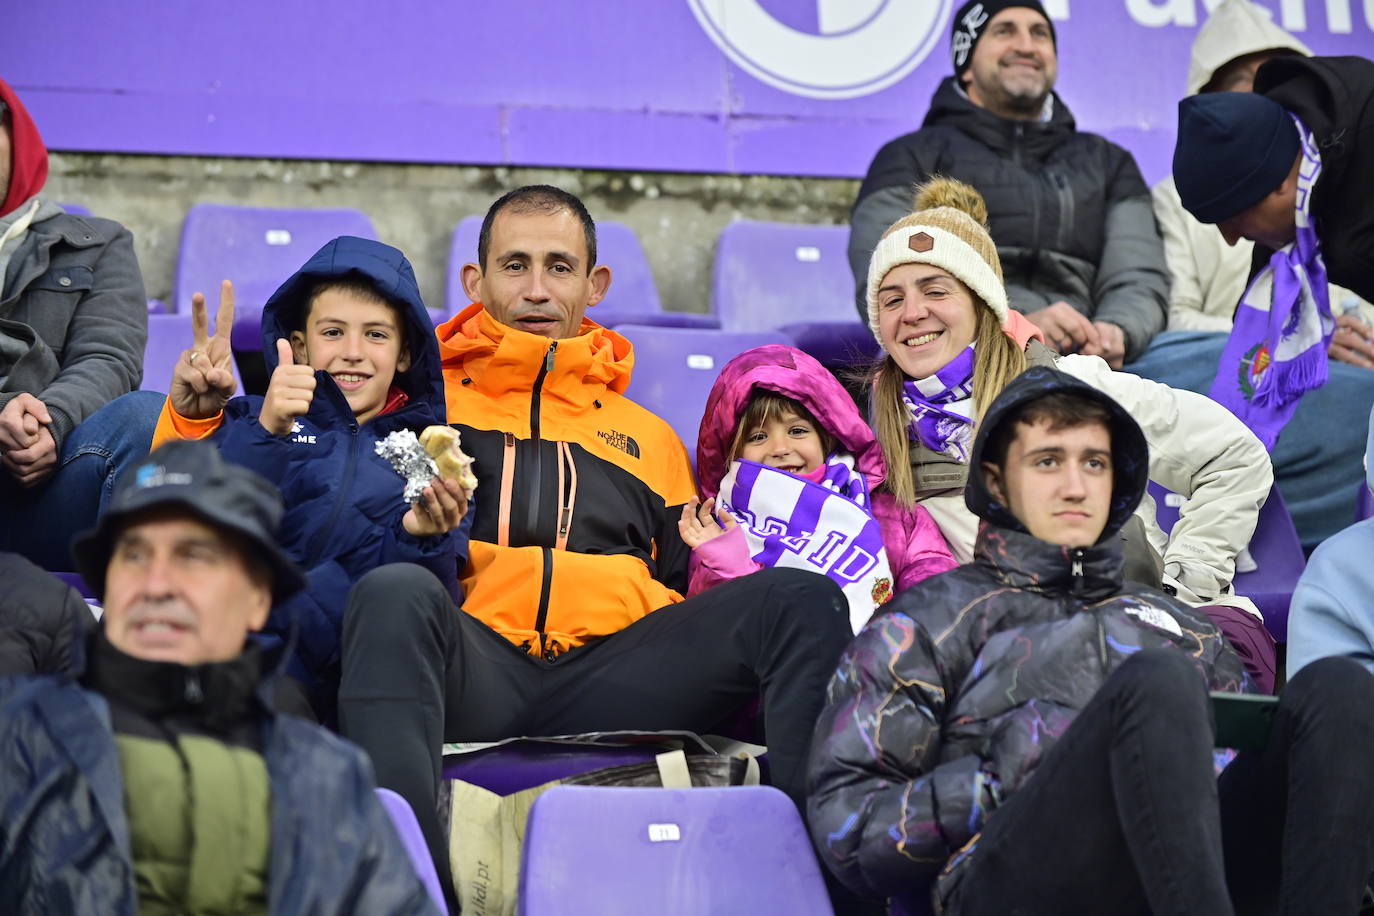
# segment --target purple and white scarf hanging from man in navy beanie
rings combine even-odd
[[[1336,331],[1326,264],[1309,216],[1322,155],[1303,122],[1296,117],[1293,122],[1303,147],[1297,238],[1275,251],[1246,288],[1209,391],[1267,449],[1274,448],[1303,394],[1326,385],[1326,350]]]

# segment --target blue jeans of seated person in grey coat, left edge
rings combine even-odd
[[[93,527],[120,472],[148,453],[165,394],[131,391],[67,434],[58,468],[33,489],[0,471],[0,551],[70,570],[71,538]]]

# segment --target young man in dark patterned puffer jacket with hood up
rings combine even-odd
[[[974,562],[899,596],[830,684],[808,805],[826,865],[916,912],[1356,912],[1374,677],[1304,669],[1267,750],[1217,779],[1206,691],[1249,681],[1202,611],[1121,577],[1140,428],[1032,368],[970,464]]]

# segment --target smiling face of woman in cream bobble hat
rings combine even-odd
[[[878,290],[882,349],[912,379],[943,369],[978,330],[973,294],[943,268],[900,264]]]

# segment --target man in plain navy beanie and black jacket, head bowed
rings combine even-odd
[[[1319,166],[1311,201],[1298,195],[1300,132]],[[1374,62],[1275,58],[1254,95],[1184,99],[1173,176],[1189,213],[1231,244],[1257,243],[1253,269],[1296,240],[1303,211],[1330,282],[1374,299]]]

